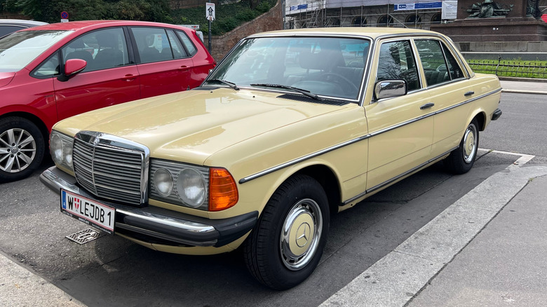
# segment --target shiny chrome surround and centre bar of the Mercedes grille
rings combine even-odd
[[[74,136],[75,139],[79,139],[81,142],[93,144],[96,147],[102,147],[107,149],[126,149],[128,151],[137,151],[143,155],[141,163],[141,182],[140,182],[140,203],[144,204],[148,201],[148,179],[149,179],[149,166],[150,166],[150,149],[147,146],[133,142],[130,139],[124,139],[123,137],[117,137],[116,135],[109,135],[103,132],[82,130]],[[95,163],[93,158],[92,163]],[[92,165],[93,169],[93,165]],[[95,184],[95,173],[93,175],[93,184]],[[95,191],[96,193],[96,191]]]

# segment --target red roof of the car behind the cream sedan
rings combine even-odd
[[[71,21],[71,22],[57,22],[57,23],[52,23],[49,25],[43,25],[40,27],[34,27],[32,29],[25,29],[25,31],[36,31],[36,30],[78,31],[81,29],[98,29],[101,27],[115,27],[115,26],[128,26],[128,25],[180,28],[180,26],[177,26],[177,25],[169,25],[169,24],[160,23],[160,22],[131,21],[131,20],[82,20],[82,21]]]

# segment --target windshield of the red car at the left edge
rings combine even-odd
[[[0,72],[20,71],[72,31],[15,32],[0,39]]]

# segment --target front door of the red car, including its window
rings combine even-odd
[[[78,36],[61,48],[62,60],[86,60],[86,69],[68,81],[55,79],[59,119],[140,98],[140,79],[130,64],[122,27]]]

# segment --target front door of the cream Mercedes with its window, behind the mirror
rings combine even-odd
[[[365,105],[369,133],[367,191],[389,184],[428,161],[433,114],[421,81],[410,40],[379,46],[376,81],[403,79],[407,95]]]

